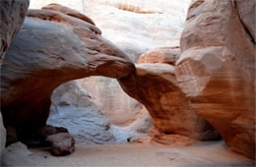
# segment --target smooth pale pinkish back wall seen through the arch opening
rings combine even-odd
[[[78,81],[92,96],[92,100],[112,125],[128,126],[135,122],[142,104],[128,96],[118,82],[103,77],[90,77]]]

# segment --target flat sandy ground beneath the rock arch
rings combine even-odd
[[[190,146],[79,143],[74,153],[64,157],[54,157],[41,148],[30,151],[9,150],[9,156],[2,157],[2,162],[15,166],[254,166],[250,159],[228,150],[223,141]]]

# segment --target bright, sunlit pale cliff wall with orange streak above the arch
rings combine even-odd
[[[178,46],[189,0],[102,0],[86,4],[86,14],[102,35],[137,61],[144,52]]]

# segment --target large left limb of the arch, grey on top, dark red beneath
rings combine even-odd
[[[91,23],[31,10],[1,69],[4,123],[29,136],[45,125],[51,93],[61,83],[89,76],[118,79],[133,70],[129,58]]]

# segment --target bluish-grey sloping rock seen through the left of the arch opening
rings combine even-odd
[[[111,143],[109,120],[101,113],[91,96],[77,82],[63,83],[51,96],[48,125],[65,127],[77,141]]]

